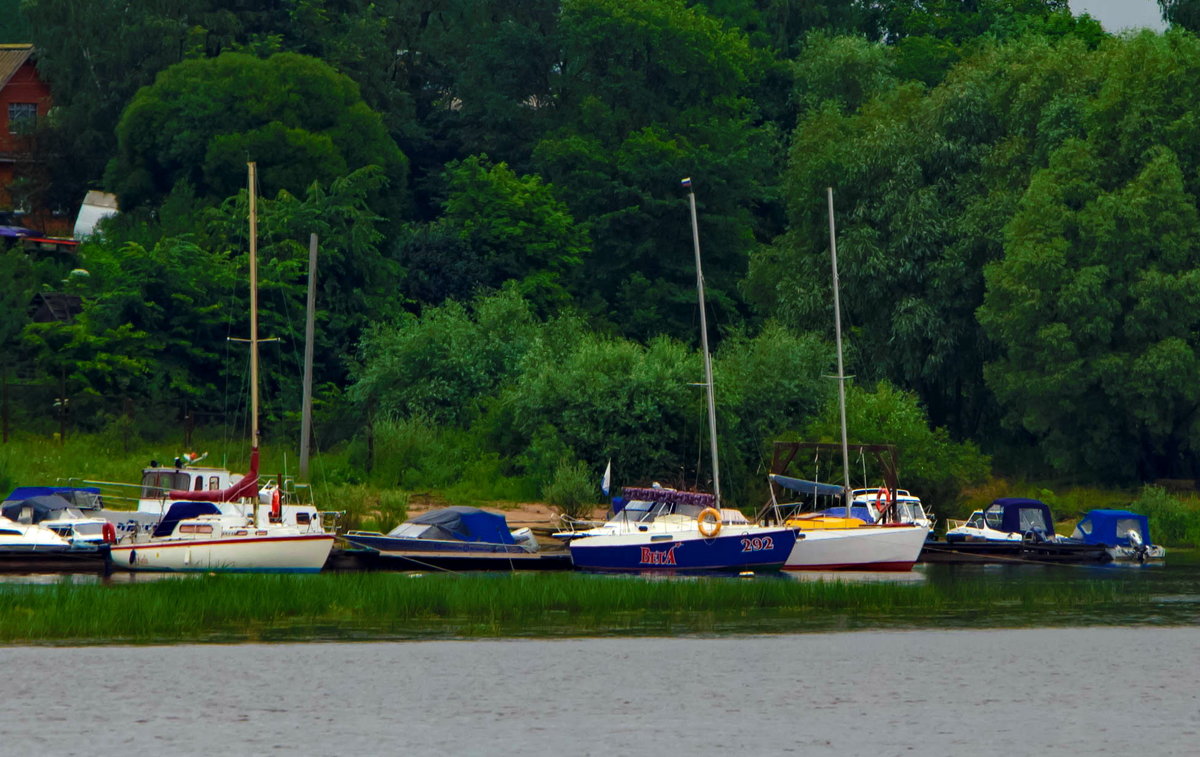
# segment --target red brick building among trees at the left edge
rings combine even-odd
[[[50,88],[37,76],[32,44],[0,44],[0,211],[48,214],[30,206],[28,191],[34,164],[34,132],[50,109]],[[42,220],[43,226],[48,218]]]

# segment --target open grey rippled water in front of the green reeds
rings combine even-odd
[[[7,648],[6,755],[1194,755],[1172,629]]]

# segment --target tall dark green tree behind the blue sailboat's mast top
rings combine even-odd
[[[776,149],[750,120],[757,59],[746,40],[679,0],[572,0],[559,44],[558,126],[534,166],[589,221],[593,254],[576,296],[635,338],[695,338],[691,229],[678,188],[691,176],[708,292],[722,320],[737,320],[750,209]]]

